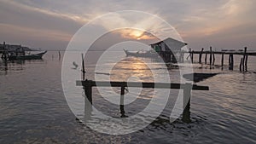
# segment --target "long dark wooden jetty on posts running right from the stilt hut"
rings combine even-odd
[[[240,62],[240,71],[241,72],[247,72],[247,60],[248,56],[256,56],[256,52],[249,52],[247,51],[247,47],[245,47],[243,50],[221,50],[221,51],[212,51],[212,47],[210,47],[210,50],[206,51],[204,48],[202,48],[200,51],[195,51],[189,49],[190,60],[192,63],[194,63],[194,55],[199,55],[199,63],[201,62],[202,55],[205,55],[205,64],[207,64],[207,55],[210,55],[209,57],[209,65],[210,68],[215,64],[215,55],[221,55],[221,67],[223,70],[224,67],[224,55],[229,55],[229,70],[234,69],[234,55],[241,55],[241,62]]]

